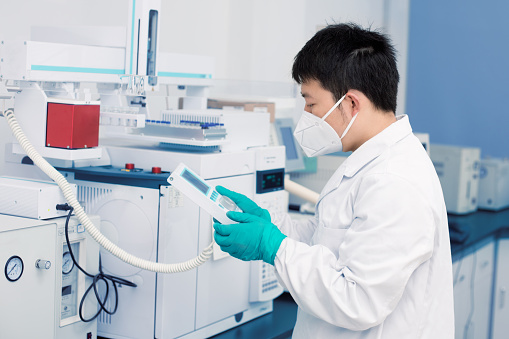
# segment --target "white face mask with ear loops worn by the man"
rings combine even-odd
[[[325,119],[339,106],[345,97],[346,94],[332,106],[323,118],[319,118],[306,111],[302,113],[293,135],[308,157],[343,151],[341,139],[345,137],[355,118],[357,118],[357,114],[350,120],[341,137],[338,136]]]

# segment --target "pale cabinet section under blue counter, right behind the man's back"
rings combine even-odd
[[[455,338],[488,338],[494,242],[480,244],[453,264]]]

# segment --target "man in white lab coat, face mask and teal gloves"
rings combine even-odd
[[[228,214],[240,224],[214,224],[216,242],[274,265],[299,306],[295,338],[453,338],[444,199],[408,117],[395,116],[388,38],[328,26],[297,54],[292,75],[306,101],[295,129],[306,154],[353,153],[306,223],[219,187],[244,213]]]

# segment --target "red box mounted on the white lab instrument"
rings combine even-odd
[[[99,145],[99,105],[48,103],[46,146],[91,148]]]

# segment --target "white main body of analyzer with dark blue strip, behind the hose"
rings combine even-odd
[[[199,248],[212,241],[210,214],[168,184],[170,169],[180,162],[209,187],[235,187],[264,208],[284,211],[288,204],[280,180],[283,147],[230,153],[105,148],[112,165],[62,171],[77,185],[78,199],[87,212],[101,216],[103,233],[145,260],[182,261],[196,256]],[[153,172],[159,165],[160,173]],[[203,338],[271,312],[272,299],[282,292],[272,266],[242,262],[214,251],[212,261],[176,275],[139,270],[102,251],[105,273],[138,287],[119,289],[119,310],[99,317],[99,334]]]

